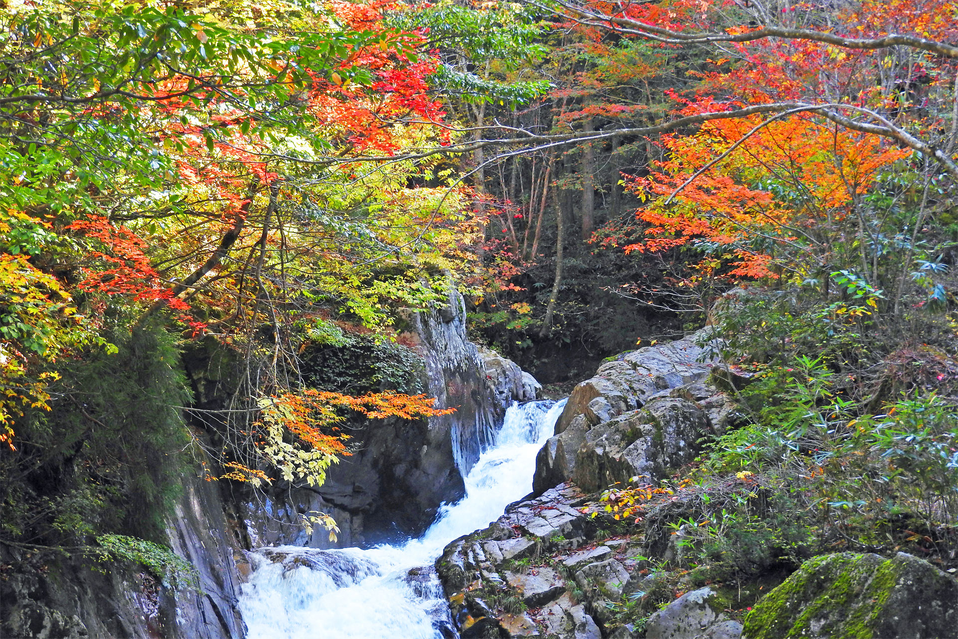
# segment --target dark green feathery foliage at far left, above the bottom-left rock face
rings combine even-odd
[[[61,359],[52,410],[18,424],[17,449],[0,459],[0,536],[67,546],[103,534],[165,538],[190,393],[169,333],[111,339],[117,354]]]

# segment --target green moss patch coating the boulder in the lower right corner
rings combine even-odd
[[[875,555],[842,553],[810,559],[752,608],[742,636],[874,639],[899,572],[895,561]]]

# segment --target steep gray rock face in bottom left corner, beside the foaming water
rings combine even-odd
[[[131,563],[104,564],[103,573],[82,557],[36,555],[0,544],[0,564],[12,568],[0,579],[0,636],[242,637],[236,527],[223,514],[217,483],[195,475],[184,483],[168,536],[173,551],[194,564],[199,590],[175,591]]]

